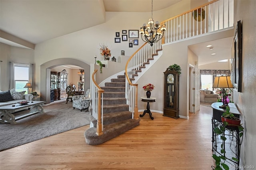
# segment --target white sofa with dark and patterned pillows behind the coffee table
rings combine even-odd
[[[0,107],[19,103],[24,100],[32,101],[32,99],[33,95],[25,94],[25,91],[18,92],[15,89],[8,91],[0,90]]]

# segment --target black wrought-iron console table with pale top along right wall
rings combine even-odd
[[[238,167],[236,170],[239,170],[240,146],[242,139],[240,139],[238,127],[227,126],[225,128],[223,135],[228,136],[225,142],[220,140],[218,134],[214,132],[215,127],[220,127],[222,125],[221,116],[226,112],[226,109],[219,108],[222,104],[222,102],[212,103],[212,152],[217,155],[225,156],[227,158],[226,162],[235,164],[236,167]],[[230,108],[230,113],[233,113],[235,117],[240,117],[241,114],[235,103],[229,103],[228,107]],[[223,148],[228,151],[227,153],[220,152],[221,144],[223,144]],[[232,157],[236,158],[238,161],[233,160]]]

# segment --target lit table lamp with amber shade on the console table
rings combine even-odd
[[[226,105],[224,103],[224,93],[226,93],[226,90],[224,88],[233,88],[233,85],[231,83],[231,79],[230,76],[219,76],[219,77],[215,77],[213,85],[213,88],[221,88],[221,94],[223,96],[222,98],[222,103],[223,105],[220,106],[220,108],[222,109],[226,109]]]

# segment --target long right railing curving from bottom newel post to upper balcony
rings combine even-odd
[[[166,25],[162,42],[144,43],[132,54],[126,63],[126,101],[129,109],[134,113],[134,119],[138,116],[138,84],[133,84],[132,79],[144,68],[145,63],[153,57],[153,51],[161,49],[161,44],[170,43],[193,36],[206,34],[233,26],[234,0],[213,0],[202,6],[174,16],[161,22]],[[134,90],[135,88],[135,90]]]

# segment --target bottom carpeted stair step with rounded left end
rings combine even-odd
[[[109,125],[104,125],[103,134],[98,136],[96,134],[96,127],[87,129],[84,132],[85,141],[90,145],[102,144],[116,136],[138,126],[140,124],[140,119],[128,119],[125,121],[120,121],[118,123],[113,123]]]

